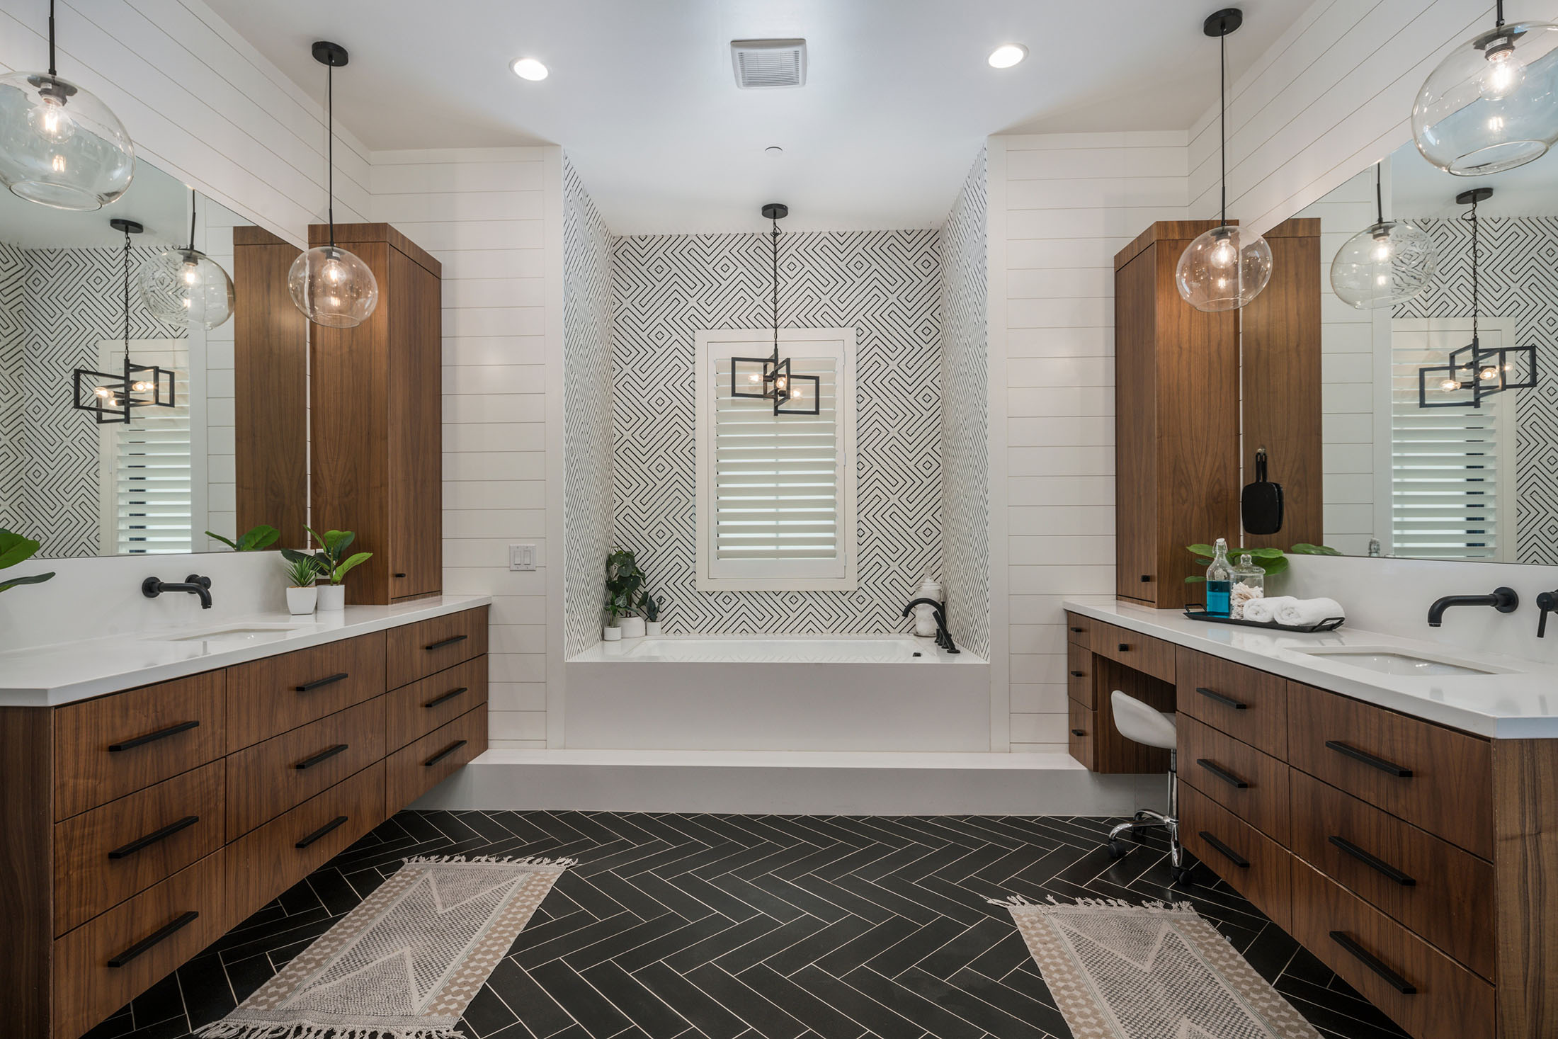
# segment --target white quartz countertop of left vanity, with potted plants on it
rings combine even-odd
[[[394,606],[347,606],[305,617],[249,614],[0,653],[0,707],[53,707],[246,660],[307,650],[486,606],[486,595],[442,595]]]

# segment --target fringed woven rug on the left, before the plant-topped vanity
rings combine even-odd
[[[453,1039],[570,858],[408,858],[206,1039]]]

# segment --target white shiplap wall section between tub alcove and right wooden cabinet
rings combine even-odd
[[[1114,592],[1114,254],[1184,218],[1186,171],[1183,131],[989,139],[991,642],[1013,751],[1066,752],[1061,600]]]

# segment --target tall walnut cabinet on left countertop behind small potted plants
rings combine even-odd
[[[308,227],[308,245],[330,229]],[[379,279],[355,329],[310,326],[313,528],[357,531],[372,559],[347,603],[442,590],[442,266],[390,224],[337,224],[335,243]]]

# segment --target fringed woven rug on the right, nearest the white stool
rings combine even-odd
[[[1011,910],[1075,1039],[1320,1039],[1189,902]]]

